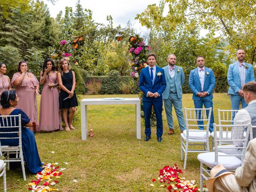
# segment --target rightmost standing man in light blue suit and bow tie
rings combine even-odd
[[[232,110],[238,110],[240,103],[242,108],[248,104],[244,100],[242,86],[247,82],[254,81],[254,70],[251,64],[244,62],[245,52],[239,49],[236,52],[237,62],[230,64],[228,67],[228,84]],[[235,113],[232,114],[234,119]]]

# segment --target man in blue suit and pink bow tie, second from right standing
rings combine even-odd
[[[215,76],[210,68],[204,66],[204,57],[198,56],[196,58],[197,68],[190,71],[189,75],[189,86],[193,92],[192,99],[194,100],[195,108],[213,108],[212,106],[212,91],[215,87]],[[208,113],[207,117],[208,117]],[[198,121],[198,124],[203,124],[204,122]],[[210,119],[209,131],[213,132],[214,116],[213,110]],[[199,126],[200,130],[203,130],[203,126]]]

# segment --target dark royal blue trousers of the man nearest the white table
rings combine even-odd
[[[154,100],[150,102],[143,101],[143,111],[145,116],[145,135],[151,135],[151,127],[150,127],[150,116],[152,112],[152,106],[154,107],[154,111],[156,114],[156,136],[161,137],[163,134],[163,121],[162,121],[162,107],[163,102],[156,102]]]

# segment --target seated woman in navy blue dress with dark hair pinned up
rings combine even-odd
[[[1,95],[0,104],[0,115],[18,115],[21,114],[21,124],[22,124],[22,150],[25,159],[26,166],[31,173],[38,173],[42,171],[42,162],[40,160],[34,132],[29,130],[26,127],[32,127],[32,122],[30,118],[24,113],[21,109],[14,108],[18,104],[18,96],[15,91],[4,91]],[[9,122],[10,123],[10,122]],[[14,124],[14,119],[12,120]],[[18,117],[16,119],[18,123]],[[0,118],[0,125],[6,125],[6,119],[4,121]],[[26,126],[26,127],[25,127]],[[4,132],[4,128],[1,129]],[[10,131],[6,130],[6,131]],[[9,137],[12,137],[12,134],[8,134]],[[6,136],[6,137],[8,137]],[[3,139],[1,140],[2,146],[18,146],[18,139]]]

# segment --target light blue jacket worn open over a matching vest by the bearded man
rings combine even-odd
[[[170,74],[169,74],[169,68],[170,68],[169,65],[167,65],[163,68],[164,69],[165,80],[166,80],[166,89],[163,92],[163,99],[168,99],[169,94],[170,94],[170,78],[171,77],[170,77]],[[182,88],[181,88],[181,86],[184,84],[185,75],[184,75],[183,69],[179,66],[175,65],[174,70],[175,70],[174,79],[175,79],[176,92],[177,92],[178,98],[182,98]]]

